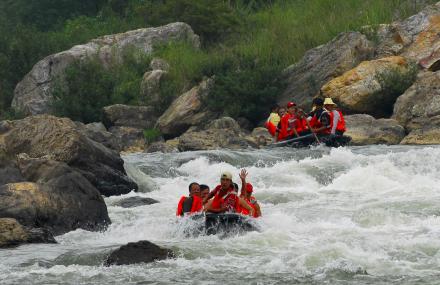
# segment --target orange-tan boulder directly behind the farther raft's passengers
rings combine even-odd
[[[410,68],[410,63],[401,56],[364,61],[329,81],[321,91],[325,97],[334,99],[346,113],[387,116],[392,112],[396,96],[384,90],[387,82],[380,81],[379,76],[403,77],[411,72]],[[393,73],[395,75],[391,75]]]

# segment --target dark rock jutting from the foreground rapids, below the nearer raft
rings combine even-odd
[[[113,251],[105,261],[106,266],[149,263],[174,257],[170,249],[161,248],[149,241],[131,242]]]

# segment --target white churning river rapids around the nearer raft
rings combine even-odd
[[[206,151],[124,157],[140,193],[106,199],[106,232],[0,250],[2,284],[440,284],[440,147]],[[246,167],[261,232],[185,237],[177,201],[190,182],[238,180]],[[159,204],[124,209],[125,197]],[[104,267],[108,253],[149,240],[178,258]]]

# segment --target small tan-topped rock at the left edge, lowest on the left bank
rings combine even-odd
[[[24,243],[56,243],[56,241],[46,229],[28,228],[15,219],[0,218],[0,248]]]

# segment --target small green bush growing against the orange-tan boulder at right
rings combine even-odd
[[[385,115],[393,113],[393,106],[397,97],[402,95],[416,80],[419,68],[411,62],[408,68],[393,68],[379,73],[376,76],[382,90],[379,92],[382,98],[382,106],[385,106]]]

